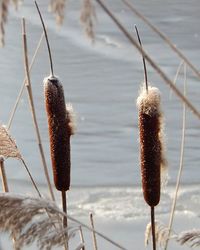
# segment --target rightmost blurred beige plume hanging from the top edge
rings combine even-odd
[[[92,0],[83,0],[81,8],[80,21],[84,27],[85,34],[94,41],[94,22],[96,21],[96,12]]]

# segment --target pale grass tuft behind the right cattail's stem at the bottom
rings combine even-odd
[[[160,247],[164,247],[168,239],[169,229],[164,224],[156,221],[155,222],[155,238],[156,242]],[[149,244],[151,238],[151,223],[146,226],[145,231],[145,246]]]

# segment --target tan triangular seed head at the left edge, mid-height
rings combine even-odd
[[[0,126],[0,155],[4,158],[22,159],[15,141],[4,126]]]

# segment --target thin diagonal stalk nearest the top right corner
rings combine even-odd
[[[121,0],[129,9],[140,19],[142,19],[155,33],[157,33],[163,41],[165,41],[169,47],[188,65],[188,67],[200,78],[200,72],[198,69],[188,60],[188,58],[173,44],[170,39],[162,33],[155,25],[153,25],[142,13],[136,10],[133,4],[129,0]]]

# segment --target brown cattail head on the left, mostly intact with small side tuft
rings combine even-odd
[[[70,187],[71,120],[66,109],[62,84],[55,76],[44,79],[44,95],[48,118],[54,183],[58,190]]]

